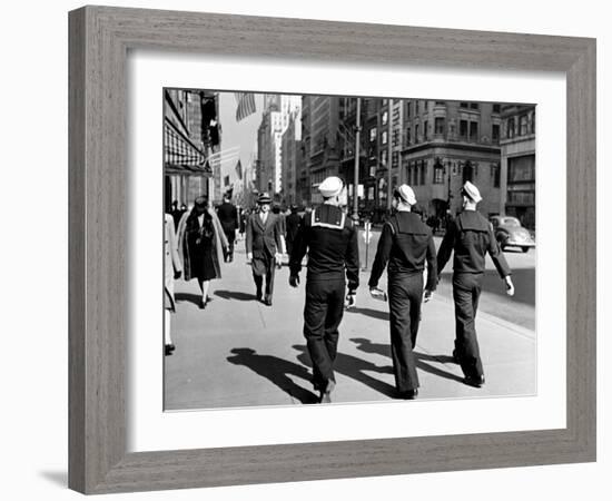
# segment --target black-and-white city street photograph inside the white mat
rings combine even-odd
[[[535,105],[162,107],[166,411],[537,393]]]

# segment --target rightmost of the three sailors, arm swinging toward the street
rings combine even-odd
[[[453,357],[460,363],[464,383],[481,387],[484,371],[476,337],[476,312],[488,253],[497,273],[505,281],[507,295],[514,295],[510,267],[500,249],[493,226],[476,210],[482,200],[478,188],[466,181],[462,188],[463,212],[448,219],[446,234],[437,253],[437,274],[454,252],[453,299],[455,303],[455,348]]]

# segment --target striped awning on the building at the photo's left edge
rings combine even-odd
[[[211,176],[207,156],[171,120],[164,120],[164,167],[166,174]]]

